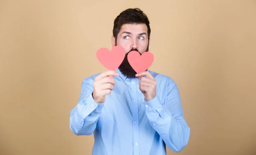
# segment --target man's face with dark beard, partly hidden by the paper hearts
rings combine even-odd
[[[135,78],[136,72],[128,62],[127,55],[131,51],[138,51],[143,54],[148,51],[150,39],[148,39],[148,28],[145,24],[124,24],[122,25],[117,39],[112,36],[112,46],[120,45],[125,49],[125,59],[119,66],[122,74],[128,78]]]

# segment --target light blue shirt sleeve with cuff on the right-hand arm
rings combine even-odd
[[[166,146],[180,152],[189,141],[190,128],[183,118],[180,93],[175,82],[169,82],[166,94],[167,98],[164,101],[156,95],[154,99],[144,101],[143,104],[151,126]]]

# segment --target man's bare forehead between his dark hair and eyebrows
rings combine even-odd
[[[122,34],[125,31],[136,35],[144,32],[147,33],[148,27],[145,24],[124,24],[120,28],[120,34]]]

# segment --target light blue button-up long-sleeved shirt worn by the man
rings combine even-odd
[[[176,83],[148,70],[157,81],[157,95],[145,101],[139,79],[116,71],[114,89],[102,104],[92,96],[99,73],[84,79],[79,102],[70,111],[70,130],[94,135],[92,155],[166,155],[166,146],[180,152],[189,141],[190,128]]]

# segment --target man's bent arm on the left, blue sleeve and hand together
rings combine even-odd
[[[105,96],[114,88],[113,76],[119,74],[113,70],[106,70],[95,78],[91,76],[84,79],[79,103],[70,111],[70,130],[74,134],[93,134],[105,103]]]

